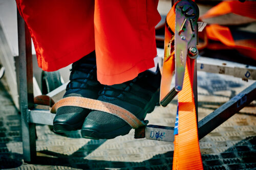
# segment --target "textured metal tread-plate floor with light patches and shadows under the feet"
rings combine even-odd
[[[211,113],[252,82],[223,75],[199,72],[199,119]],[[146,119],[150,124],[174,126],[176,100],[158,107]],[[13,169],[171,169],[174,144],[134,139],[80,138],[79,131],[63,135],[48,126],[37,125],[37,160],[22,159],[20,115],[0,81],[0,168]],[[256,167],[256,102],[228,119],[200,140],[205,169],[252,169]]]

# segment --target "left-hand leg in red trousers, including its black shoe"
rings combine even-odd
[[[67,96],[98,98],[94,41],[94,1],[17,0],[20,14],[30,29],[38,65],[53,71],[72,64]],[[85,57],[83,57],[85,56]],[[89,109],[65,106],[53,120],[55,132],[81,129]]]

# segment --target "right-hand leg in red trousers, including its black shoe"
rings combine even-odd
[[[118,105],[141,120],[159,102],[160,71],[147,70],[154,67],[157,54],[157,4],[152,0],[95,1],[97,77],[105,84],[97,100]],[[123,119],[92,111],[81,134],[84,138],[110,139],[130,130]]]

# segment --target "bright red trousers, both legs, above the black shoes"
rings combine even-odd
[[[158,0],[16,0],[38,65],[65,67],[96,51],[97,77],[112,85],[154,66]]]

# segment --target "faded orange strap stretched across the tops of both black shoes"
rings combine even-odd
[[[51,113],[56,113],[57,109],[63,106],[77,106],[81,108],[107,112],[123,119],[133,129],[145,126],[145,124],[133,113],[129,112],[124,108],[121,108],[120,106],[108,102],[102,102],[78,96],[70,96],[67,98],[63,98],[59,100],[57,103],[55,103],[51,109]]]

